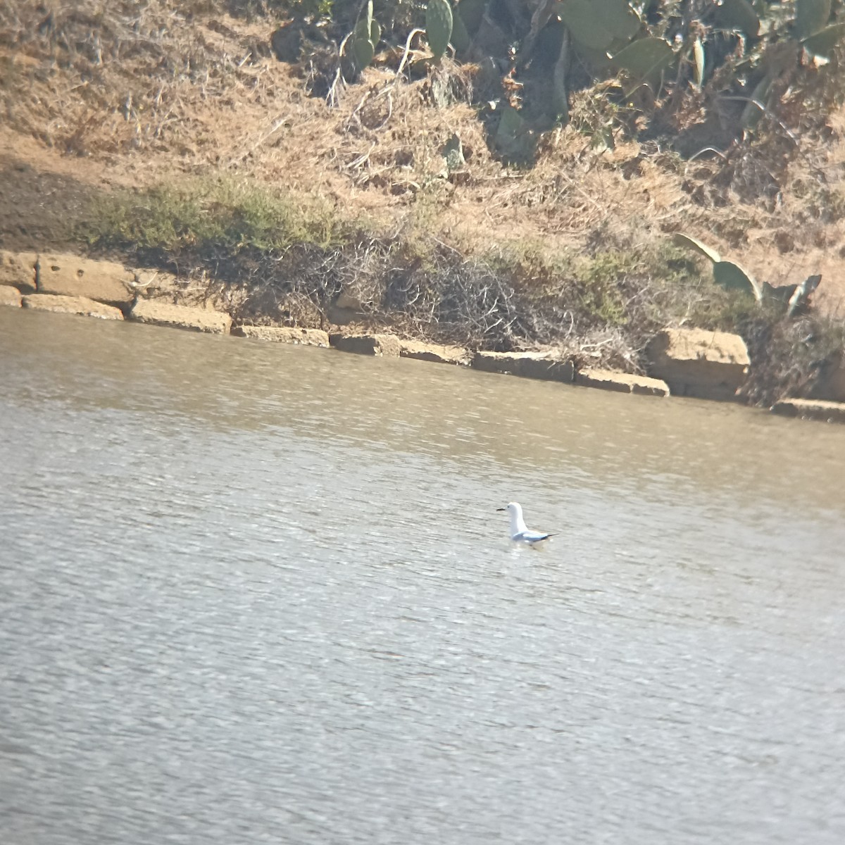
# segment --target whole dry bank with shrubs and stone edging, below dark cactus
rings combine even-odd
[[[803,416],[845,403],[841,61],[790,54],[809,87],[740,137],[724,86],[756,83],[712,74],[714,53],[690,86],[672,41],[680,75],[619,99],[585,66],[549,123],[548,68],[511,67],[527,19],[431,64],[408,7],[350,68],[361,8],[321,7],[318,43],[298,0],[83,5],[6,16],[8,303]]]

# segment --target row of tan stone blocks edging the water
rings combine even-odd
[[[410,357],[618,393],[663,398],[682,395],[750,405],[738,395],[750,376],[748,350],[741,336],[728,332],[664,329],[654,335],[646,348],[647,373],[637,374],[585,367],[554,346],[488,352],[434,344],[420,337],[407,338],[384,330],[389,328],[384,326],[371,330],[360,303],[342,292],[331,303],[330,314],[323,315],[335,320],[321,329],[238,322],[225,310],[212,307],[210,299],[205,300],[203,307],[189,302],[190,297],[176,277],[160,271],[74,254],[0,250],[0,305],[7,307],[126,319],[374,357]],[[845,366],[829,374],[826,388],[835,398],[783,397],[769,410],[784,416],[845,423]]]

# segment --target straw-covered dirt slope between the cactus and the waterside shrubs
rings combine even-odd
[[[797,150],[738,153],[729,168],[657,142],[594,150],[570,127],[519,170],[496,160],[468,104],[477,68],[453,68],[457,101],[438,107],[431,79],[397,80],[383,55],[330,108],[308,95],[308,67],[273,56],[277,25],[215,3],[0,3],[0,244],[61,239],[101,190],[226,172],[470,254],[689,232],[775,285],[821,273],[816,306],[845,317],[845,113]],[[449,177],[455,134],[466,167]]]

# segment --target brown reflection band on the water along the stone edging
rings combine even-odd
[[[38,350],[9,377],[21,399],[180,416],[200,428],[330,436],[373,450],[443,459],[487,457],[495,468],[546,464],[559,482],[837,502],[845,429],[807,425],[728,404],[575,390],[409,360],[367,359],[298,346],[209,337],[52,315],[6,316],[14,351]],[[52,320],[52,322],[51,322]],[[29,352],[25,354],[29,355]],[[30,356],[31,357],[31,356]],[[13,358],[14,360],[14,358]],[[127,390],[131,384],[132,389]],[[180,423],[182,425],[184,423]],[[797,504],[797,503],[796,503]]]

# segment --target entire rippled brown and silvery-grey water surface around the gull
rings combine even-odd
[[[4,843],[845,841],[845,428],[11,309],[0,427]]]

